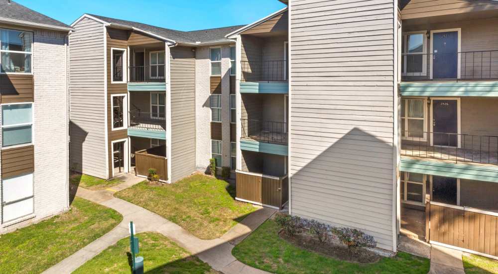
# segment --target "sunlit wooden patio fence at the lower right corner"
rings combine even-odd
[[[429,231],[427,231],[427,228]],[[498,213],[436,202],[426,204],[430,243],[498,259]]]

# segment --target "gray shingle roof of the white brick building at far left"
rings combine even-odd
[[[56,27],[71,28],[61,21],[57,21],[14,1],[10,1],[9,4],[8,0],[0,0],[0,19],[1,18],[20,20],[24,22],[44,24]]]

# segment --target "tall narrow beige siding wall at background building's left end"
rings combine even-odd
[[[69,36],[71,168],[107,178],[104,26],[89,18]]]

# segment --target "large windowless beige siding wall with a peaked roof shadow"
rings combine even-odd
[[[393,0],[291,1],[291,213],[393,250]]]

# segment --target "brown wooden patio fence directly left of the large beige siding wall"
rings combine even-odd
[[[289,198],[287,175],[275,177],[237,171],[237,200],[282,208]]]

